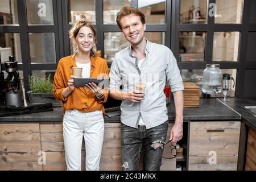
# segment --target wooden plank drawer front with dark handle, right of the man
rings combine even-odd
[[[191,122],[189,170],[237,170],[240,121]]]

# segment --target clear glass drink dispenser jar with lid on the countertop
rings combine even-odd
[[[222,71],[220,64],[207,64],[203,72],[203,93],[221,93]]]

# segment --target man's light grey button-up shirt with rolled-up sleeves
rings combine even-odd
[[[177,61],[171,50],[163,45],[147,40],[146,59],[138,67],[138,59],[133,55],[131,46],[118,52],[110,70],[109,89],[131,92],[135,84],[146,84],[145,99],[139,103],[123,100],[121,104],[121,122],[127,126],[138,128],[142,117],[146,129],[159,126],[168,120],[164,87],[166,81],[171,91],[184,90]],[[167,78],[167,80],[166,80]]]

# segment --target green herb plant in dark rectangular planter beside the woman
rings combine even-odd
[[[28,77],[28,99],[31,104],[61,103],[53,96],[52,75],[39,77],[33,75]]]

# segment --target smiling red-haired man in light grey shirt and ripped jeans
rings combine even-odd
[[[117,24],[131,43],[115,55],[110,71],[109,94],[122,100],[122,168],[138,170],[144,150],[144,170],[160,170],[168,130],[163,89],[168,81],[174,93],[176,119],[170,140],[178,142],[183,137],[183,81],[171,50],[144,38],[145,16],[140,10],[123,7]],[[145,92],[135,89],[141,82]]]

